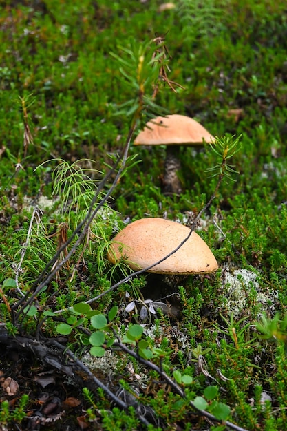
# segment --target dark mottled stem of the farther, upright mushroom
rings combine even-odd
[[[167,153],[164,161],[164,193],[182,192],[182,184],[178,178],[180,170],[178,145],[167,145]]]

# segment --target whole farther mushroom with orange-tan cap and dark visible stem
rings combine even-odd
[[[134,145],[167,145],[164,192],[181,193],[182,185],[177,174],[180,169],[180,145],[200,147],[204,142],[212,143],[214,139],[214,136],[193,118],[173,114],[149,121],[136,137]]]

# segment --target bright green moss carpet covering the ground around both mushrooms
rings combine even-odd
[[[283,341],[276,344],[275,339],[258,337],[255,324],[264,311],[272,318],[277,311],[284,315],[287,306],[286,1],[209,0],[203,5],[180,0],[176,8],[164,12],[159,12],[158,6],[155,0],[149,1],[148,7],[134,0],[11,0],[2,8],[1,297],[13,306],[20,292],[32,293],[33,282],[41,271],[47,271],[46,265],[63,243],[59,234],[62,223],[67,224],[70,237],[96,192],[95,186],[87,197],[79,187],[73,195],[67,187],[67,206],[63,208],[61,187],[56,192],[60,201],[59,196],[52,200],[54,164],[35,168],[56,158],[70,164],[82,160],[81,168],[88,169],[92,181],[103,178],[111,158],[125,147],[132,123],[127,114],[140,97],[136,81],[139,63],[133,50],[141,49],[156,34],[165,34],[168,78],[184,89],[177,87],[173,92],[168,82],[161,80],[160,91],[151,98],[151,76],[156,76],[157,70],[145,63],[147,101],[171,114],[195,117],[215,136],[241,135],[241,149],[230,160],[238,171],[233,176],[236,181],[222,183],[197,227],[220,271],[169,282],[165,290],[176,297],[168,296],[164,301],[180,309],[180,318],[160,313],[151,316],[146,336],[150,346],[172,350],[162,363],[171,376],[173,369],[180,369],[193,377],[192,396],[202,396],[206,386],[218,384],[223,388],[218,401],[231,407],[232,420],[240,426],[285,430],[285,333],[279,334]],[[145,51],[146,60],[151,59],[152,47]],[[127,61],[132,72],[128,77],[122,74],[125,63],[120,59]],[[27,106],[28,119],[19,98],[34,99]],[[125,110],[127,102],[130,105]],[[130,160],[125,176],[111,193],[107,212],[98,214],[85,245],[76,249],[37,297],[38,321],[34,316],[22,317],[23,330],[30,334],[39,330],[40,310],[66,310],[75,302],[97,297],[127,274],[125,266],[115,269],[106,258],[110,240],[126,222],[162,217],[190,225],[209,201],[217,177],[211,177],[208,169],[218,160],[208,145],[180,148],[180,196],[162,191],[165,147],[132,145],[147,114],[157,109],[144,104],[145,115],[136,121],[129,149],[136,158]],[[231,109],[240,109],[238,117],[232,116]],[[23,139],[26,120],[33,138],[28,147]],[[97,174],[87,159],[94,160]],[[109,177],[101,196],[115,176],[114,172]],[[41,211],[32,220],[36,204]],[[77,235],[56,262],[72,249]],[[13,286],[5,284],[9,279]],[[125,311],[127,303],[142,292],[156,291],[155,283],[165,283],[155,280],[143,274],[142,279],[127,281],[96,300],[93,310],[106,313],[119,303],[125,333],[127,324],[138,318],[137,313]],[[5,302],[1,303],[0,317],[11,332],[17,332]],[[54,337],[55,328],[49,317],[43,328],[45,337]],[[83,348],[83,339],[76,331],[72,333],[70,343],[75,351]],[[129,381],[134,377],[124,369],[127,358],[122,368],[117,365],[117,372]],[[138,361],[133,361],[140,372]],[[156,374],[147,368],[143,373],[142,401],[160,418],[148,429],[172,429],[167,423],[182,429],[205,426],[198,416],[189,414],[186,401],[154,383]],[[271,397],[265,404],[263,392]],[[104,397],[99,400],[103,429],[143,426],[134,409],[108,410],[109,401]],[[92,418],[92,412],[89,414]]]

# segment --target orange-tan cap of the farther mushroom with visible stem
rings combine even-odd
[[[185,115],[156,117],[138,134],[134,145],[202,145],[212,143],[212,136],[200,123]]]

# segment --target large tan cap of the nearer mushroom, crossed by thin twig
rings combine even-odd
[[[110,262],[126,259],[131,269],[145,269],[171,253],[187,238],[190,229],[162,218],[142,218],[128,224],[114,238],[108,252]],[[189,239],[149,272],[161,274],[211,273],[218,269],[209,246],[192,232]]]

